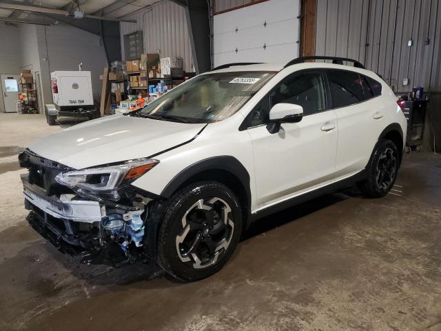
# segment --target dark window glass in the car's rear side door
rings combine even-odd
[[[333,108],[340,108],[365,100],[362,82],[356,72],[327,70]]]

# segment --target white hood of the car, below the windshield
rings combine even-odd
[[[149,157],[193,139],[204,126],[114,115],[51,134],[29,149],[46,159],[82,169]]]

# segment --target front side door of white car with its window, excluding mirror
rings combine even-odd
[[[302,106],[298,123],[267,130],[276,103]],[[335,171],[337,117],[327,110],[320,70],[294,72],[267,94],[245,119],[252,139],[258,209],[329,183]]]

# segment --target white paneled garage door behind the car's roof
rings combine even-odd
[[[269,0],[214,16],[214,66],[298,57],[299,0]]]

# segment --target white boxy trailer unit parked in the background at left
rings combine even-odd
[[[57,116],[100,117],[94,106],[90,71],[54,71],[50,74],[53,104],[46,106],[49,125],[55,124]]]

